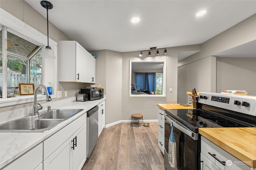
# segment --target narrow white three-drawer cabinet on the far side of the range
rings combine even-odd
[[[164,111],[158,108],[158,146],[164,154]]]

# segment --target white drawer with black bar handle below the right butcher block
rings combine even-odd
[[[242,161],[203,136],[201,136],[201,153],[222,170],[250,170],[248,165],[243,164]],[[215,154],[216,158],[220,161],[224,161],[225,165],[221,164],[216,158],[211,156],[211,154]]]

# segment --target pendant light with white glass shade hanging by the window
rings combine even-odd
[[[56,57],[53,54],[52,48],[49,46],[49,29],[48,29],[48,9],[49,10],[52,9],[53,5],[51,2],[48,2],[46,0],[42,0],[41,5],[47,10],[47,46],[42,51],[41,57],[48,58],[48,59],[56,59]]]

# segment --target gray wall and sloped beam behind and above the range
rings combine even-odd
[[[190,57],[178,62],[178,103],[187,103],[186,92],[196,88],[198,92],[221,92],[222,90],[246,90],[250,95],[256,95],[255,92],[255,59],[243,58],[217,58],[214,61],[214,54],[231,49],[233,47],[248,43],[256,39],[256,14],[246,20],[234,25],[230,29],[212,37],[202,43],[202,50]],[[207,61],[207,58],[211,58]],[[209,63],[210,62],[210,63]],[[214,66],[214,62],[216,63]],[[241,63],[240,63],[241,62]],[[250,64],[249,64],[250,63]],[[205,68],[202,64],[210,67]],[[248,66],[247,66],[248,65]],[[195,66],[198,76],[201,78],[191,78],[194,75]],[[215,68],[214,68],[215,67]],[[236,79],[235,74],[230,74],[239,70],[242,83]],[[188,76],[189,75],[189,76]],[[223,77],[230,76],[227,80]],[[252,78],[254,77],[254,78]],[[188,79],[188,80],[187,80]],[[189,83],[188,83],[189,81]],[[209,83],[209,81],[211,83]],[[215,83],[215,84],[214,84]],[[250,85],[248,85],[250,84]],[[207,87],[205,87],[207,86]],[[215,88],[214,88],[215,86]]]

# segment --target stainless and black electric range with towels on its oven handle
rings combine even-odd
[[[173,122],[176,150],[180,149],[179,141],[186,143],[186,158],[179,159],[178,170],[199,170],[200,156],[198,128],[215,127],[256,127],[256,97],[232,94],[200,92],[197,109],[166,109],[164,123],[164,165],[166,170],[172,168],[168,161],[168,143],[171,133],[170,122]],[[184,166],[184,165],[190,166]]]

